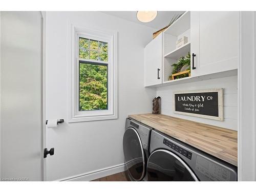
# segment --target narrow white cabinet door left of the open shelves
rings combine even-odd
[[[145,47],[145,87],[162,83],[162,42],[161,33]]]

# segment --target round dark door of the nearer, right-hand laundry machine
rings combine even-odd
[[[147,161],[148,181],[198,181],[192,170],[176,154],[156,150]]]

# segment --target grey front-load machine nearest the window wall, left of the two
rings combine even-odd
[[[123,135],[125,174],[131,181],[146,181],[146,163],[149,156],[152,128],[134,119],[126,118]]]

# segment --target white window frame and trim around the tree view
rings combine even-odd
[[[108,42],[108,62],[79,58],[79,37]],[[117,32],[100,32],[71,25],[71,65],[68,122],[117,119]],[[79,60],[108,64],[108,110],[79,111]]]

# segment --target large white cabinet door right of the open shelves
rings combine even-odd
[[[191,12],[191,76],[238,68],[239,12]]]

